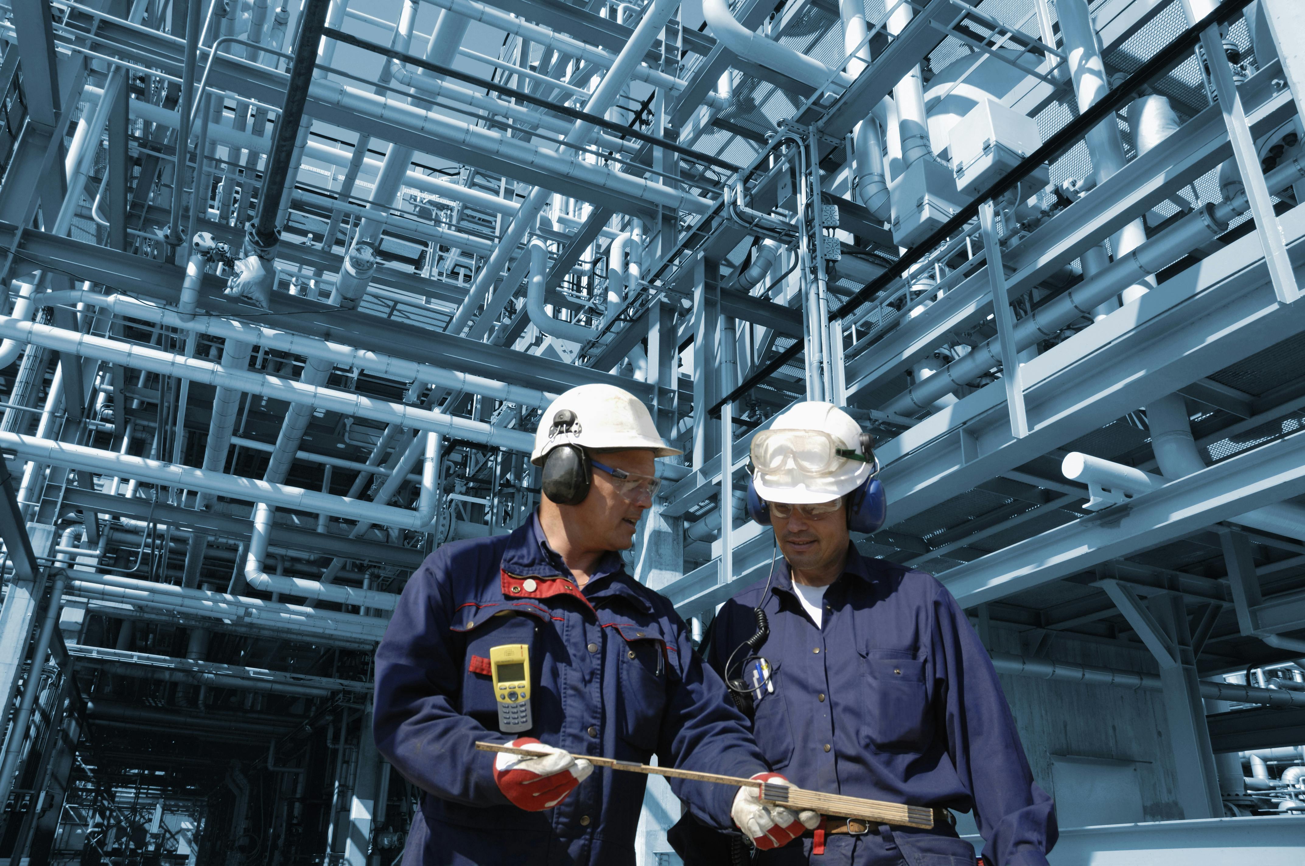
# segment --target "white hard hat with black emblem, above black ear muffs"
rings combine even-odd
[[[570,411],[576,420],[569,429],[553,429],[555,419],[562,411]],[[578,445],[590,450],[642,449],[652,451],[652,456],[683,454],[662,441],[649,407],[615,385],[581,385],[549,403],[539,419],[530,462],[543,466],[544,456],[559,445]]]

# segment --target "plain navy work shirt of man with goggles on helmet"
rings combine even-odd
[[[707,660],[722,676],[757,630],[753,608],[763,588],[736,595],[713,623]],[[846,569],[822,604],[817,626],[788,563],[775,565],[763,604],[770,638],[760,652],[774,668],[774,691],[756,703],[754,716],[767,763],[801,788],[974,810],[988,863],[1045,866],[1057,836],[1052,799],[1034,781],[997,672],[951,593],[929,574],[848,545]],[[741,676],[746,655],[739,652],[729,677]],[[950,827],[940,832],[954,836]],[[903,848],[957,857],[921,862],[974,862],[963,840],[895,835]],[[876,862],[853,841],[831,835],[826,854],[812,862]],[[812,840],[804,843],[809,853]],[[870,857],[874,845],[860,848]],[[758,862],[791,862],[793,854],[773,852]]]

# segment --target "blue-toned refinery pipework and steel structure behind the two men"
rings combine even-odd
[[[585,383],[696,638],[843,406],[1052,863],[1301,862],[1305,4],[7,3],[0,865],[399,862],[376,644]]]

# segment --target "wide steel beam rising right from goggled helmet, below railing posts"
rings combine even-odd
[[[1305,209],[1280,222],[1300,267]],[[1030,434],[1023,440],[1010,434],[1005,386],[997,382],[876,449],[890,514],[904,520],[1298,334],[1305,312],[1293,306],[1274,296],[1259,239],[1238,239],[1026,363]]]

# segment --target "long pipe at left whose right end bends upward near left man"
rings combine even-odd
[[[281,509],[325,511],[350,520],[367,520],[380,526],[405,530],[424,530],[429,520],[416,526],[414,511],[375,502],[364,502],[345,496],[304,490],[288,484],[273,484],[240,475],[226,475],[191,466],[177,466],[117,451],[102,451],[72,442],[56,442],[35,436],[22,436],[0,430],[0,449],[13,451],[20,458],[47,466],[63,466],[84,472],[97,472],[149,484],[200,490],[244,502],[266,502]]]

